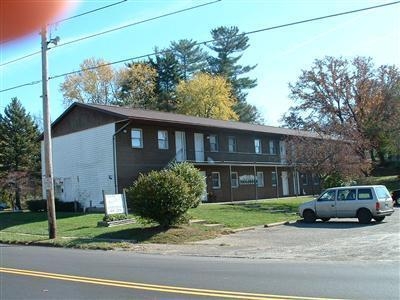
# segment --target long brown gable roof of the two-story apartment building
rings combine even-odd
[[[58,123],[62,122],[64,117],[74,108],[83,107],[86,109],[91,109],[99,113],[108,114],[121,120],[145,120],[154,122],[164,122],[171,124],[182,124],[191,126],[203,126],[211,128],[221,128],[230,130],[240,130],[240,131],[252,131],[259,133],[270,133],[270,134],[280,134],[289,136],[305,136],[318,138],[319,135],[314,132],[301,131],[283,127],[274,127],[266,125],[258,125],[251,123],[244,123],[238,121],[223,121],[195,116],[187,116],[182,114],[161,112],[153,110],[145,110],[138,108],[128,108],[121,106],[111,106],[111,105],[100,105],[100,104],[84,104],[74,102],[60,117],[57,118],[52,124],[52,127],[56,126]]]

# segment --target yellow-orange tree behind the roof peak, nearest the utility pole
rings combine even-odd
[[[80,64],[79,73],[65,76],[60,90],[65,106],[72,102],[113,104],[117,100],[115,72],[103,59],[88,58]]]

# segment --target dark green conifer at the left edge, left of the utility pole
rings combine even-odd
[[[40,170],[39,132],[21,102],[12,98],[0,114],[0,171],[3,184],[15,188],[16,207],[21,209],[20,182]]]

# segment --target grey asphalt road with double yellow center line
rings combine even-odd
[[[399,262],[164,256],[7,245],[0,249],[0,299],[400,297]]]

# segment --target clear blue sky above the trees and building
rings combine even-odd
[[[80,1],[66,15],[74,16],[116,1]],[[64,45],[108,29],[212,2],[186,0],[128,0],[110,8],[60,22],[49,28],[59,36],[58,47],[48,51],[48,74],[56,76],[79,70],[89,57],[114,62],[153,53],[155,46],[168,47],[171,41],[211,39],[218,26],[237,26],[241,32],[344,11],[375,6],[391,1],[367,0],[222,0],[214,4],[165,18],[131,26],[81,42]],[[250,47],[240,64],[257,65],[248,74],[258,86],[249,91],[248,102],[256,105],[267,125],[279,125],[282,114],[292,105],[288,83],[295,82],[302,69],[324,56],[369,56],[376,65],[400,67],[400,4],[355,14],[319,20],[249,35]],[[0,45],[0,63],[4,64],[40,50],[38,33]],[[116,64],[120,68],[123,64]],[[41,79],[40,54],[0,67],[0,90]],[[59,86],[63,77],[49,81],[51,118],[65,109]],[[0,93],[0,111],[18,97],[31,115],[41,116],[41,84]]]

